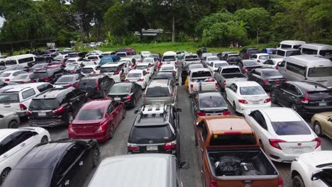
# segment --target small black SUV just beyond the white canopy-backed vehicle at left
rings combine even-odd
[[[49,82],[50,84],[54,84],[64,73],[65,71],[60,68],[40,69],[33,72],[30,79],[31,82]]]

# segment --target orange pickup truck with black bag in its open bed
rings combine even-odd
[[[243,118],[199,117],[194,126],[205,187],[283,186],[275,165]]]

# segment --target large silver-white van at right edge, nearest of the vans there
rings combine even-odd
[[[312,55],[287,57],[277,65],[278,71],[287,81],[316,81],[332,87],[332,62]]]

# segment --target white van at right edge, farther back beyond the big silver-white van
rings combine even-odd
[[[307,43],[299,47],[301,54],[303,55],[331,55],[332,45],[320,44],[320,43]]]

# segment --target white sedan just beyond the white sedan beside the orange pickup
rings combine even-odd
[[[248,108],[271,107],[271,98],[255,81],[238,81],[226,86],[226,98],[238,113]]]

